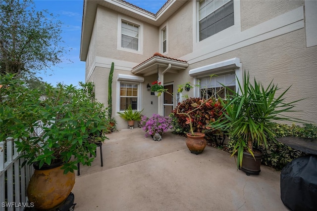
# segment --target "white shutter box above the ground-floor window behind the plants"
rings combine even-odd
[[[217,73],[218,71],[221,71],[223,73],[226,70],[232,70],[237,68],[240,68],[240,59],[235,57],[232,59],[227,59],[221,62],[192,69],[189,71],[189,75],[191,77],[202,77]]]

